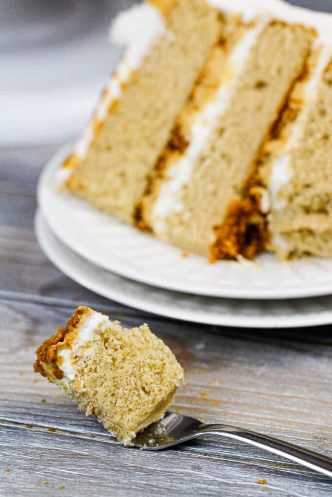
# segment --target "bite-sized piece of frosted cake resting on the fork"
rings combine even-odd
[[[35,371],[126,445],[163,417],[184,382],[174,354],[146,324],[125,329],[88,307],[76,309],[36,354]]]

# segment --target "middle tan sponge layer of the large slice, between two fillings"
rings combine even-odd
[[[314,36],[309,29],[279,21],[269,22],[262,30],[256,25],[254,32],[258,37],[245,53],[244,67],[231,80],[229,98],[221,106],[198,159],[194,158],[176,209],[166,219],[167,238],[173,244],[203,255],[209,255],[213,246],[217,258],[236,256],[225,249],[220,227],[228,207],[241,199],[259,147],[289,88],[303,72]],[[242,53],[247,46],[244,44]]]

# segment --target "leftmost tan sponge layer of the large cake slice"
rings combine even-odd
[[[143,27],[153,30],[153,36],[147,37],[147,53],[140,52],[138,67],[129,64],[135,70],[128,72],[131,46],[103,97],[111,102],[107,115],[105,110],[102,116],[97,113],[90,136],[83,141],[92,138],[86,155],[81,146],[80,154],[68,163],[75,166],[68,188],[128,223],[221,26],[218,11],[202,0],[167,2],[156,17],[164,29],[155,32],[155,23],[151,26],[147,20]],[[111,90],[115,96],[110,100]]]

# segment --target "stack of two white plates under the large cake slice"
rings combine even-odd
[[[332,323],[332,259],[219,261],[184,254],[61,189],[62,149],[38,185],[36,234],[67,276],[122,304],[197,323],[288,328]]]

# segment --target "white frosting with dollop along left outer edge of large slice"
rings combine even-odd
[[[116,73],[106,85],[106,93],[97,103],[96,113],[101,121],[106,119],[112,102],[121,98],[121,85],[130,80],[132,72],[140,67],[151,46],[158,41],[165,30],[165,21],[161,12],[147,2],[132,5],[114,19],[110,28],[110,40],[120,47],[125,47],[126,50],[116,68]],[[74,153],[81,159],[86,157],[93,137],[93,124],[89,123],[74,148]]]

